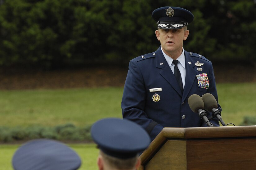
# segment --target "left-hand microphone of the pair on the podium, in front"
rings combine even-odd
[[[188,98],[188,105],[190,109],[199,114],[199,117],[204,120],[204,122],[207,124],[209,127],[213,127],[213,125],[210,123],[210,121],[207,118],[207,113],[204,109],[204,102],[200,96],[197,94],[192,94]]]

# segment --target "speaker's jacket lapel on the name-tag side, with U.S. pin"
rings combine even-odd
[[[161,47],[158,48],[158,50],[155,52],[155,55],[156,67],[161,69],[159,74],[175,89],[177,93],[179,93],[180,96],[182,96],[177,80],[175,79],[171,68],[164,58]]]

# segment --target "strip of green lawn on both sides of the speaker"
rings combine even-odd
[[[256,83],[217,84],[222,119],[239,125],[256,116]],[[83,127],[106,117],[122,117],[123,88],[0,91],[0,126]]]

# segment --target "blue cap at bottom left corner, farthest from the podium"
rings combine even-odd
[[[67,145],[48,139],[28,141],[12,158],[15,170],[76,170],[81,159]]]

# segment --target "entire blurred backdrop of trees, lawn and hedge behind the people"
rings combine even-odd
[[[151,13],[164,6],[194,14],[184,49],[212,61],[225,123],[255,125],[256,0],[0,0],[0,150],[8,160],[35,138],[87,153],[92,144],[74,143],[92,143],[98,119],[122,117],[129,60],[160,46]],[[84,164],[93,158],[95,169],[96,156]],[[2,161],[0,169],[11,167]]]

